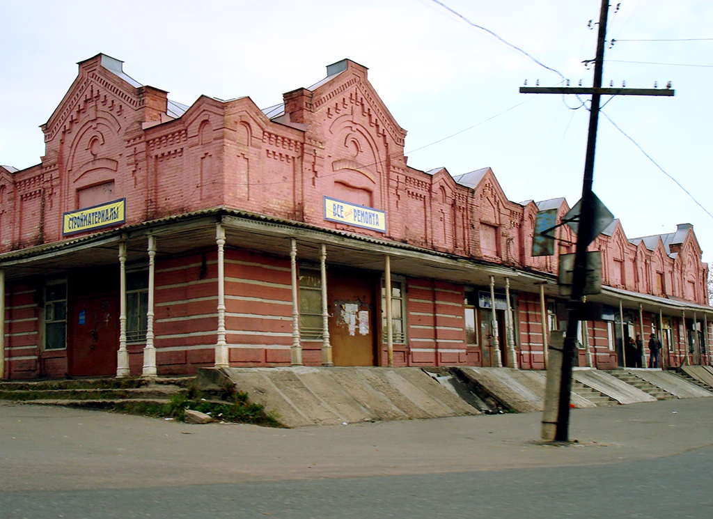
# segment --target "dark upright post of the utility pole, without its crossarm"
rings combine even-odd
[[[597,35],[597,56],[594,61],[594,88],[602,86],[602,72],[604,66],[604,45],[607,37],[607,15],[609,0],[602,0],[599,16],[599,34]],[[601,94],[592,94],[590,108],[589,132],[587,138],[587,155],[584,166],[582,182],[582,203],[580,205],[579,232],[577,236],[577,249],[575,251],[575,267],[572,279],[572,294],[568,305],[569,316],[567,334],[563,346],[562,379],[560,380],[560,401],[558,406],[556,441],[569,441],[570,424],[570,391],[572,390],[572,357],[576,349],[577,323],[580,320],[583,308],[584,287],[587,276],[587,247],[593,230],[594,193],[594,158],[597,144],[597,125],[599,123],[599,103]]]

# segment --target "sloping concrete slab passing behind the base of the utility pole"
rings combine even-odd
[[[545,404],[545,372],[511,368],[458,367],[463,376],[481,386],[503,406],[520,413],[535,413]],[[596,404],[575,393],[570,402],[576,407],[596,407]]]

